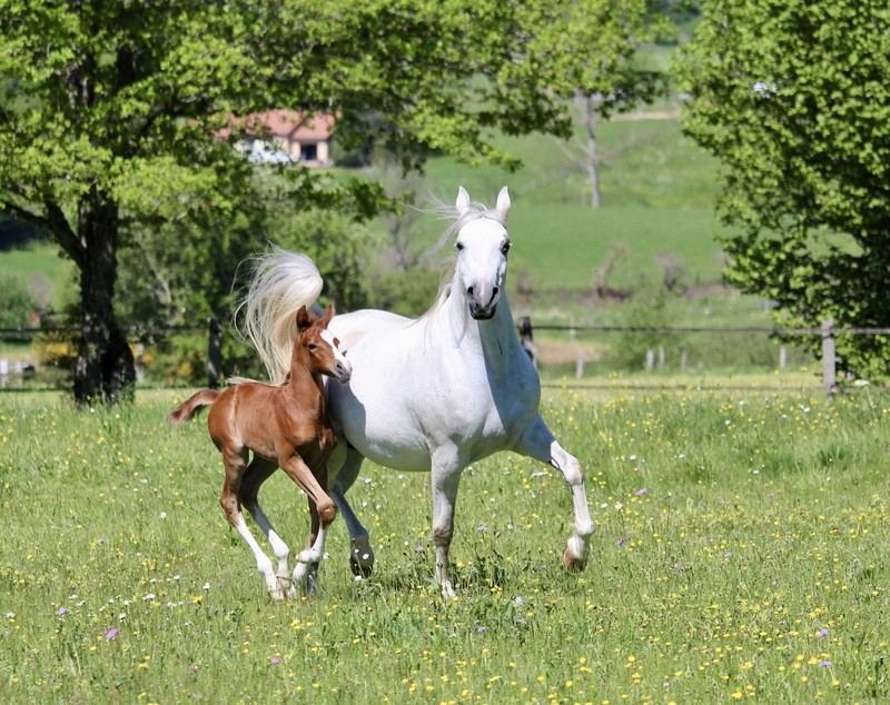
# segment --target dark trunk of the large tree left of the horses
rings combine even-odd
[[[79,262],[81,335],[73,389],[78,404],[132,398],[136,366],[113,310],[118,227],[117,203],[93,187],[78,210],[85,255]]]

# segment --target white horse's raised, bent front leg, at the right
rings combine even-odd
[[[587,491],[584,488],[581,463],[556,441],[540,416],[526,428],[515,450],[552,465],[568,483],[575,509],[575,533],[565,546],[563,562],[571,569],[582,570],[587,563],[590,539],[596,527],[593,525],[587,506]]]

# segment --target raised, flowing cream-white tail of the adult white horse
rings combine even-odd
[[[241,301],[244,330],[259,354],[273,384],[290,370],[297,337],[297,311],[315,304],[324,280],[306,255],[278,247],[256,259],[254,280]]]

